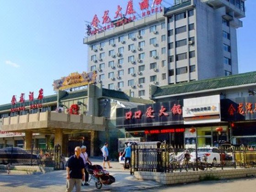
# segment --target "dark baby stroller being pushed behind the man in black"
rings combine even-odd
[[[115,177],[109,175],[109,172],[104,170],[101,165],[87,165],[85,169],[91,175],[91,180],[95,181],[95,187],[101,189],[102,184],[111,185],[115,182]]]

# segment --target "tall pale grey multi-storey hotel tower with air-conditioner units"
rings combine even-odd
[[[104,88],[145,99],[150,84],[237,74],[236,29],[243,17],[245,0],[174,0],[169,8],[149,7],[138,20],[120,17],[84,38],[88,70],[97,71]]]

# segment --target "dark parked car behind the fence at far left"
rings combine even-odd
[[[0,149],[0,164],[38,164],[39,156],[20,147],[5,147]]]

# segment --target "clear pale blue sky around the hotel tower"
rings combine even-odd
[[[133,0],[134,9],[139,2]],[[43,88],[44,96],[55,94],[53,80],[87,70],[85,21],[128,0],[0,0],[0,105],[11,103],[21,93]],[[150,0],[153,2],[153,0]],[[163,0],[170,6],[173,0]],[[243,27],[237,30],[239,73],[256,71],[256,0],[246,0]]]

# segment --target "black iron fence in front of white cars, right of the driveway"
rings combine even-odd
[[[203,171],[219,167],[256,167],[256,149],[223,145],[185,149],[160,142],[133,144],[131,174],[134,171]]]

